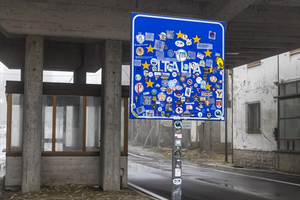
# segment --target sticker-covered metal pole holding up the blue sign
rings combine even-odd
[[[181,200],[181,138],[182,121],[173,120],[172,200]]]

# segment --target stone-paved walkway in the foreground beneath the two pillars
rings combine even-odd
[[[150,200],[150,198],[144,194],[141,194],[131,188],[121,189],[120,191],[99,191],[97,186],[92,185],[55,185],[44,186],[40,192],[34,193],[21,193],[19,190],[8,191],[0,194],[0,199],[107,199],[107,200]]]

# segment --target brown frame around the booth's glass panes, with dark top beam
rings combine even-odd
[[[57,88],[56,89],[49,89],[49,91],[45,91],[45,84],[47,84],[46,88]],[[49,86],[49,85],[50,86]],[[64,89],[59,89],[58,84],[63,84]],[[23,85],[22,81],[6,81],[6,90],[5,93],[7,94],[7,130],[6,130],[6,153],[8,154],[20,154],[22,151],[15,151],[11,150],[11,120],[12,120],[12,94],[19,93],[23,94],[23,86],[22,87],[15,87],[13,85]],[[78,86],[79,85],[79,86]],[[72,90],[73,88],[78,89],[81,88],[81,93],[85,95],[80,95],[79,93]],[[127,88],[128,87],[128,88]],[[86,88],[86,89],[82,89]],[[90,89],[91,88],[91,89]],[[41,151],[42,156],[76,156],[76,155],[86,155],[86,156],[99,156],[100,151],[86,151],[86,96],[98,96],[100,97],[101,85],[100,84],[74,84],[74,83],[49,83],[43,82],[43,95],[52,95],[52,146],[51,151]],[[65,94],[62,92],[66,91]],[[77,90],[76,90],[77,91]],[[95,92],[93,92],[95,91]],[[55,94],[58,93],[58,94]],[[121,97],[124,98],[124,148],[121,151],[122,156],[128,155],[128,97],[129,97],[129,86],[122,85],[121,90]],[[83,116],[82,116],[82,148],[81,151],[55,151],[55,135],[56,135],[56,97],[57,95],[76,95],[76,96],[83,96]],[[86,95],[88,94],[88,95]],[[94,95],[92,95],[94,94]],[[121,134],[121,132],[120,132]],[[41,142],[41,141],[40,141]],[[8,155],[6,155],[8,156]]]

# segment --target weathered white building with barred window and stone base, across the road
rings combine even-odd
[[[296,49],[231,70],[236,165],[300,173],[299,60]]]

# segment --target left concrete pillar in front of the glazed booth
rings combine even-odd
[[[26,36],[22,147],[22,192],[40,190],[43,37]]]

